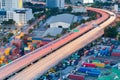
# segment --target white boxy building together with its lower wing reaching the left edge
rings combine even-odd
[[[33,18],[32,9],[0,10],[0,23],[13,19],[18,25],[26,25]]]

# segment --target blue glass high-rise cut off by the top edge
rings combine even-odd
[[[46,6],[48,8],[60,8],[63,9],[65,0],[46,0]]]

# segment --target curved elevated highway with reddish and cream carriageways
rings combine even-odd
[[[16,74],[10,78],[11,80],[33,80],[35,76],[42,75],[49,68],[56,65],[62,59],[68,57],[73,52],[77,51],[78,49],[84,47],[88,43],[92,42],[96,38],[103,35],[104,28],[108,26],[110,23],[112,23],[116,18],[114,13],[111,13],[106,10],[101,10],[96,8],[88,8],[88,10],[100,13],[102,17],[98,18],[97,20],[91,21],[91,23],[89,23],[89,25],[85,27],[81,27],[81,28],[78,27],[78,29],[80,30],[78,33],[69,33],[63,36],[62,38],[53,41],[52,43],[45,45],[42,48],[37,49],[31,52],[30,54],[27,54],[13,61],[12,63],[6,66],[1,67],[0,80],[5,79],[6,77],[12,75],[13,73],[19,71],[20,69],[24,68],[25,66],[34,62],[35,60],[39,59],[40,57],[50,53],[51,49],[52,50],[57,49],[65,44],[63,47],[51,53],[49,56],[41,59],[40,61],[36,62],[34,65],[31,65],[30,67],[21,71],[19,74]],[[93,28],[94,22],[96,24],[100,24],[99,27]],[[86,31],[89,32],[85,33]],[[83,33],[85,34],[82,35]],[[73,40],[76,37],[78,38]],[[71,42],[66,44],[69,41]]]

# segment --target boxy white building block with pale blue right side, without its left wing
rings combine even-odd
[[[32,10],[31,9],[16,9],[13,12],[13,20],[18,25],[27,24],[27,22],[33,18]]]

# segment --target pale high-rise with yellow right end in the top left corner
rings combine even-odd
[[[22,0],[0,0],[0,8],[5,10],[18,9],[23,7]]]

